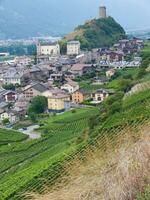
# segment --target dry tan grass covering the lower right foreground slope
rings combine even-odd
[[[98,148],[92,152],[88,149],[85,162],[77,159],[67,169],[70,171],[69,184],[59,183],[59,190],[31,196],[34,200],[136,199],[137,191],[141,189],[139,183],[144,185],[149,175],[143,167],[149,163],[149,130],[148,124],[134,124],[117,131],[115,140],[103,138]]]

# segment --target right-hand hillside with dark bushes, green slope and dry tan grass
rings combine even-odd
[[[31,193],[28,197],[36,200],[150,199],[150,89],[139,89],[124,98],[132,85],[143,83],[150,76],[145,70],[150,63],[149,45],[142,57],[138,73],[131,72],[132,77],[124,75],[126,81],[115,80],[118,92],[101,104],[99,115],[90,118],[84,144],[68,157],[55,187],[51,185],[47,189],[49,184],[45,183],[45,188],[39,190],[35,184],[34,190],[47,194]],[[62,166],[57,168],[56,176],[61,169]],[[53,183],[51,176],[48,180]]]

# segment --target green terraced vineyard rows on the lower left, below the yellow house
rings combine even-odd
[[[22,199],[19,192],[32,190],[33,183],[80,146],[78,138],[88,128],[89,118],[98,112],[97,108],[78,109],[43,120],[45,125],[38,130],[42,138],[38,140],[26,140],[21,133],[8,131],[10,138],[6,145],[0,145],[0,200]],[[0,130],[1,142],[6,142],[4,132]]]

